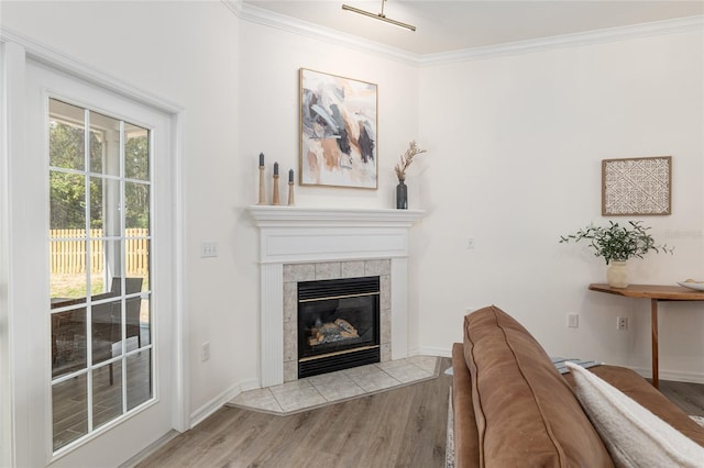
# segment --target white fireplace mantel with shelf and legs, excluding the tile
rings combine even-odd
[[[391,259],[392,358],[408,354],[408,230],[421,210],[253,205],[260,229],[261,385],[284,382],[285,264]]]

